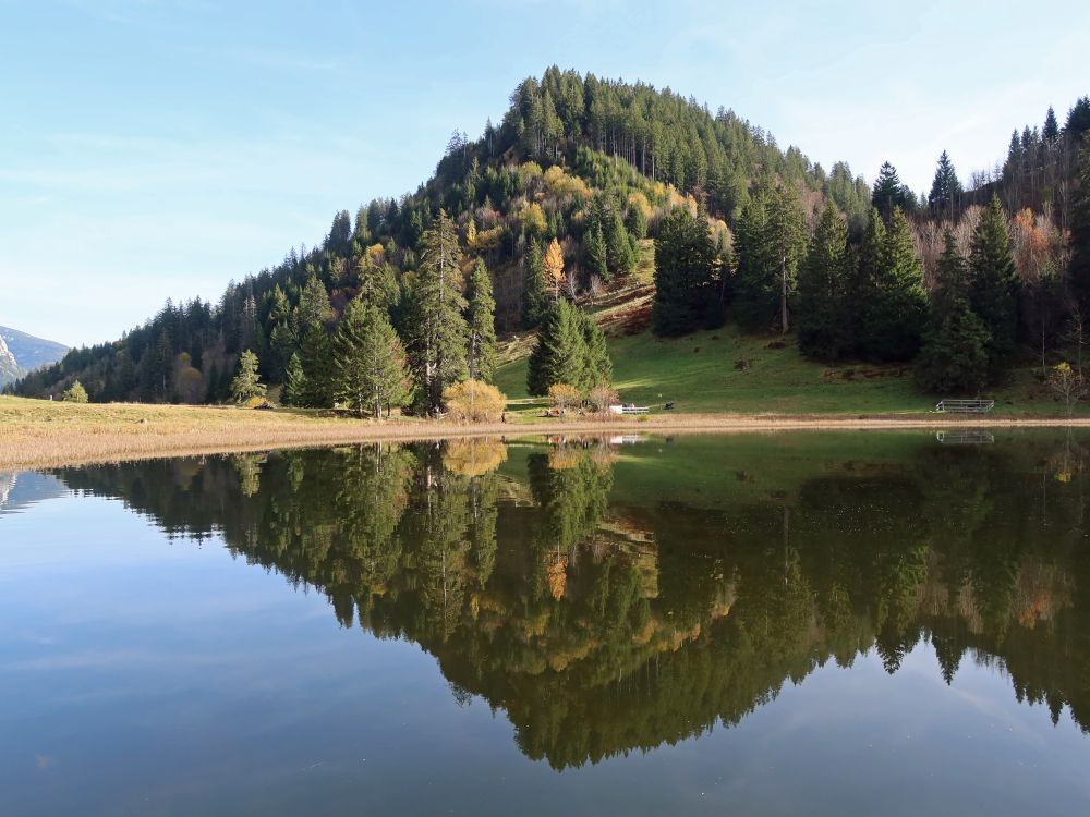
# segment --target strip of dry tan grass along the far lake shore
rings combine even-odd
[[[0,402],[0,471],[361,442],[538,435],[1090,428],[1087,417],[673,414],[455,424],[365,420],[233,407]]]

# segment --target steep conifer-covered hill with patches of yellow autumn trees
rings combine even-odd
[[[1012,210],[1022,206],[1022,191],[1031,188],[1038,202],[1061,203],[1066,217],[1075,190],[1071,146],[1086,130],[1082,120],[1088,114],[1090,101],[1083,99],[1055,135],[1027,129],[1019,149],[1012,147],[1010,172],[1005,166],[997,178],[978,180],[979,188],[988,185],[1013,195],[1007,202]],[[229,394],[241,353],[252,350],[265,381],[284,382],[294,375],[299,382],[310,382],[303,404],[329,404],[330,392],[318,394],[314,387],[327,379],[318,371],[320,358],[332,353],[330,338],[350,303],[377,307],[398,336],[384,343],[392,343],[398,355],[403,343],[410,368],[433,373],[439,362],[422,355],[425,347],[434,352],[436,338],[417,331],[433,284],[440,292],[448,285],[465,290],[471,271],[483,269],[476,292],[481,294],[484,282],[495,303],[486,293],[477,307],[494,309],[495,328],[533,327],[549,303],[561,296],[582,303],[626,276],[643,248],[641,242],[657,239],[665,217],[681,211],[706,218],[712,270],[707,280],[698,282],[699,292],[685,297],[702,301],[697,309],[702,319],[705,314],[722,318],[724,310],[737,306],[736,294],[746,294],[747,281],[768,290],[765,295],[775,289],[775,281],[756,280],[755,268],[747,269],[742,259],[746,236],[756,235],[758,227],[768,235],[778,229],[776,210],[767,206],[776,191],[789,192],[791,211],[802,218],[800,235],[792,235],[791,247],[785,244],[779,254],[789,306],[796,309],[803,245],[826,203],[843,214],[853,246],[862,244],[873,221],[872,204],[884,218],[900,211],[911,220],[916,254],[932,272],[944,220],[955,222],[972,204],[953,167],[945,167],[927,198],[918,199],[901,185],[892,166],[883,167],[872,191],[846,163],[826,171],[796,147],[780,149],[771,134],[730,110],[713,114],[669,89],[550,68],[540,80],[528,78],[514,89],[502,121],[488,122],[481,138],[456,133],[433,178],[415,193],[373,199],[354,216],[343,210],[317,246],[292,248],[271,269],[232,282],[218,303],[168,301],[120,340],[73,350],[59,364],[25,377],[14,390],[59,394],[81,380],[95,401],[218,401]],[[1020,185],[1027,178],[1031,183]],[[449,219],[440,221],[444,211]],[[760,275],[773,275],[774,243],[762,239],[767,269]],[[443,247],[453,248],[460,272],[453,278],[448,271],[437,273],[428,260],[429,246],[440,255]],[[754,246],[751,242],[749,251]],[[715,301],[716,307],[705,308],[704,301]],[[771,325],[762,322],[762,310],[743,302],[739,304],[749,316],[748,328],[767,330]],[[787,310],[785,297],[785,325]],[[367,320],[374,322],[372,318]],[[362,315],[359,319],[367,322]],[[472,316],[464,319],[472,322]],[[493,321],[487,322],[485,334],[492,331]],[[445,382],[474,370],[475,362],[465,358],[463,349],[450,365],[439,366]],[[480,365],[481,379],[488,379],[492,363]],[[417,407],[436,402],[433,386],[415,378],[412,402]],[[422,401],[422,390],[434,393]]]

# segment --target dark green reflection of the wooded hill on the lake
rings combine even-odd
[[[1085,452],[896,444],[896,466],[798,460],[789,485],[739,489],[766,478],[758,456],[706,486],[714,509],[598,443],[522,449],[502,476],[487,441],[59,474],[421,644],[556,767],[737,723],[871,648],[895,672],[921,639],[947,680],[966,655],[994,662],[1020,699],[1090,724]],[[653,502],[632,500],[643,470]]]

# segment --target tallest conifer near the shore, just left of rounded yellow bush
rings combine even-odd
[[[443,404],[443,390],[467,376],[461,255],[455,222],[439,210],[424,233],[412,298],[410,363],[416,385],[415,404],[424,413],[437,411]]]

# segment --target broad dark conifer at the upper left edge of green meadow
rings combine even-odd
[[[652,330],[678,336],[699,329],[714,291],[715,244],[707,221],[683,207],[658,225],[655,237],[655,303]]]

